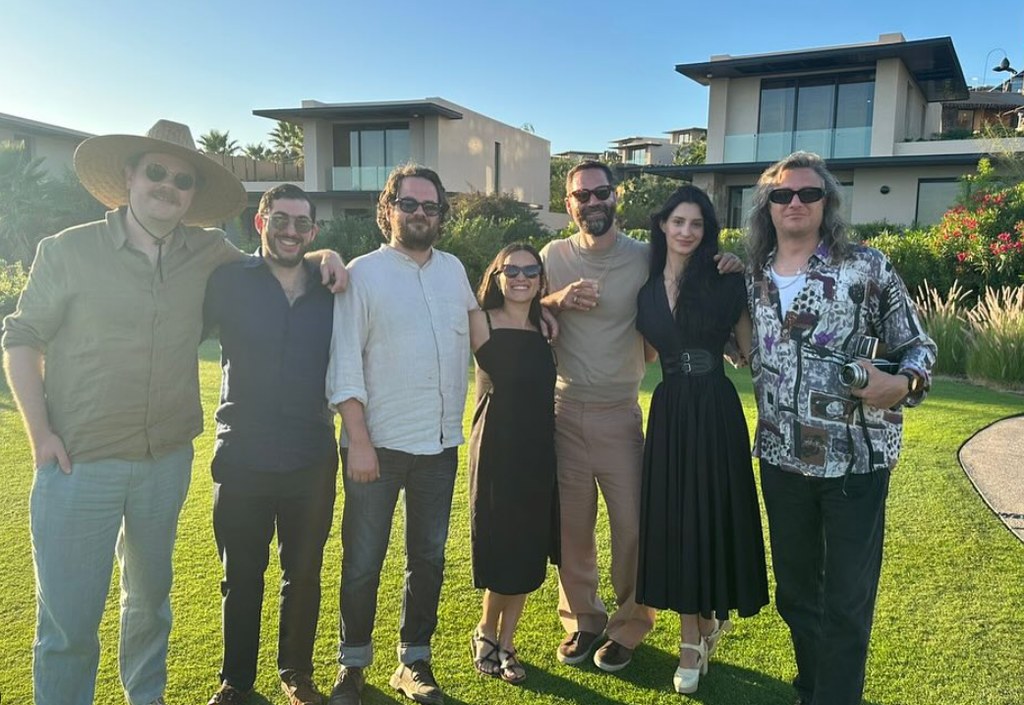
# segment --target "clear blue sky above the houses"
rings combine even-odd
[[[3,10],[0,113],[94,133],[141,133],[170,118],[196,136],[230,130],[243,144],[273,127],[256,109],[440,96],[529,123],[553,152],[597,151],[707,125],[708,90],[677,64],[887,32],[952,37],[969,84],[997,77],[1004,51],[1024,68],[1024,9],[1014,3],[13,2]]]

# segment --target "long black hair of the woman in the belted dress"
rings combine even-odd
[[[676,320],[680,323],[684,320],[699,323],[702,312],[697,305],[697,295],[701,290],[710,289],[712,277],[719,276],[718,267],[715,264],[715,255],[718,254],[718,236],[721,229],[711,199],[697,186],[689,183],[680,186],[673,192],[662,209],[650,216],[650,275],[648,281],[657,281],[664,276],[668,244],[662,223],[669,219],[672,211],[676,210],[681,203],[692,203],[700,209],[700,216],[703,218],[703,238],[700,239],[700,244],[687,260],[686,268],[681,273],[682,281],[679,283],[679,295],[676,298],[675,306]],[[683,316],[684,310],[685,317]]]

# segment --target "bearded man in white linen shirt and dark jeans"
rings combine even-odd
[[[406,582],[398,668],[390,685],[420,703],[444,696],[430,667],[430,639],[444,572],[452,493],[463,442],[469,316],[477,307],[466,271],[434,249],[449,212],[436,173],[396,168],[377,222],[389,242],[349,265],[335,299],[327,390],[341,412],[341,668],[330,705],[360,702],[377,588],[399,491],[406,499]]]

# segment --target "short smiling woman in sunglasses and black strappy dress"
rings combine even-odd
[[[473,582],[483,614],[473,664],[512,683],[526,672],[513,637],[526,594],[558,561],[555,363],[540,331],[543,267],[524,244],[505,247],[484,272],[470,315],[476,413],[469,442]]]

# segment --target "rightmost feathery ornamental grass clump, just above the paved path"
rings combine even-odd
[[[967,312],[971,326],[968,377],[1024,388],[1024,286],[986,288]]]

